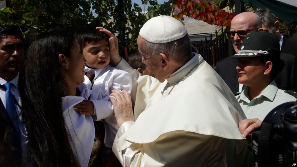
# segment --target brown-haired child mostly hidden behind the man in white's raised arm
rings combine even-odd
[[[137,70],[140,75],[150,75],[152,77],[155,77],[151,70],[146,67],[146,64],[141,61],[141,53],[139,51],[135,51],[129,55],[128,64],[133,69]]]

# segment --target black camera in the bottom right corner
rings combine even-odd
[[[252,133],[253,164],[297,166],[297,101],[277,106]]]

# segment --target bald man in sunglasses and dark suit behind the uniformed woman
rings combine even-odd
[[[235,53],[238,53],[247,34],[256,31],[263,31],[261,18],[257,14],[253,12],[243,12],[232,19],[230,31],[227,31],[227,35],[231,38]],[[284,70],[277,75],[275,82],[282,90],[297,91],[297,77],[295,73],[297,69],[294,65],[297,59],[292,55],[287,55],[288,54],[281,53],[280,58],[285,61],[285,67]],[[238,83],[237,64],[238,59],[231,59],[229,56],[217,62],[215,69],[234,94],[241,92],[245,87]]]

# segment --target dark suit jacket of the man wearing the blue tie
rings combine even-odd
[[[15,160],[20,162],[21,150],[17,150],[17,147],[15,147],[14,133],[12,121],[0,100],[0,142],[8,146],[8,149],[15,150],[13,151]]]

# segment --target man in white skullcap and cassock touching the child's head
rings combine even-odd
[[[98,29],[110,36],[111,47],[117,42]],[[142,62],[155,78],[141,76],[119,53],[110,54],[111,63],[132,77],[132,99],[127,91],[111,94],[119,126],[114,154],[126,167],[226,166],[226,138],[243,139],[238,122],[244,114],[233,93],[192,53],[187,29],[175,18],[154,17],[139,34]]]

